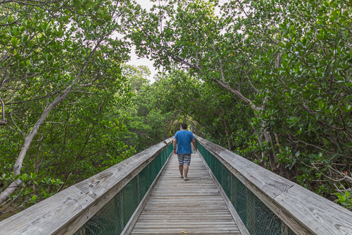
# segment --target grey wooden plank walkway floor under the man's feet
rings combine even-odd
[[[188,176],[172,155],[131,234],[241,234],[198,154]]]

